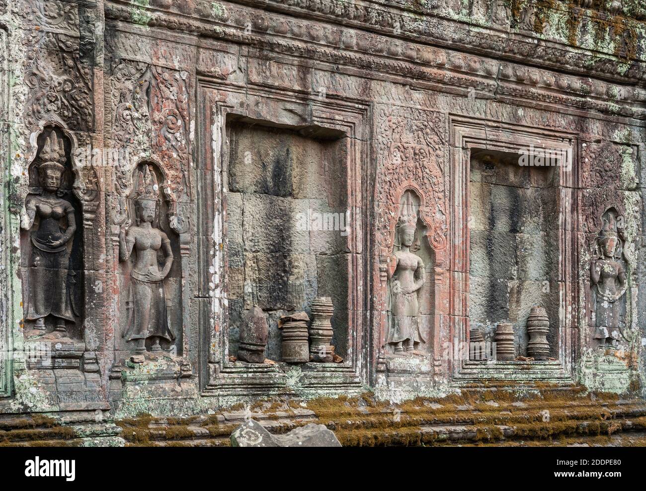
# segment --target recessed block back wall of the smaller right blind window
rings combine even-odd
[[[519,154],[490,150],[474,150],[470,164],[470,329],[494,341],[497,323],[509,321],[516,355],[527,356],[527,317],[543,306],[557,357],[557,167],[521,166]]]

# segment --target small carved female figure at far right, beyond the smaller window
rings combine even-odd
[[[626,272],[617,260],[620,239],[607,221],[598,239],[599,257],[592,259],[590,281],[596,287],[596,330],[601,346],[616,346],[620,336],[620,299],[626,292]]]

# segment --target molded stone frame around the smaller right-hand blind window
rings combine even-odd
[[[579,306],[576,294],[578,286],[579,251],[577,232],[579,218],[576,215],[574,198],[578,187],[577,135],[521,125],[510,125],[498,121],[450,115],[451,169],[450,209],[453,224],[451,229],[450,270],[452,271],[450,298],[450,343],[461,346],[468,343],[469,328],[469,227],[470,216],[470,157],[472,149],[498,150],[518,153],[521,148],[533,145],[537,150],[550,148],[565,149],[572,155],[572,170],[559,167],[557,188],[559,196],[559,243],[558,288],[559,288],[559,336],[557,361],[522,362],[469,361],[460,357],[448,360],[451,381],[472,382],[479,379],[512,380],[522,368],[523,380],[546,380],[555,383],[572,383],[574,379],[574,358],[578,346]],[[455,351],[453,351],[455,352]],[[455,363],[453,363],[455,362]]]

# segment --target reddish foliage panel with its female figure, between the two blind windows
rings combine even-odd
[[[377,139],[378,292],[386,311],[386,354],[426,354],[432,346],[436,281],[448,245],[444,117],[383,108]]]

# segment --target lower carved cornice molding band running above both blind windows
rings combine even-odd
[[[237,6],[229,8],[227,14],[220,15],[219,24],[158,10],[149,10],[148,14],[147,26],[225,39],[258,50],[297,55],[320,63],[394,74],[409,79],[413,85],[420,82],[438,83],[450,87],[452,92],[457,89],[475,97],[494,97],[494,94],[498,94],[541,101],[548,105],[565,105],[580,110],[646,119],[646,90],[626,88],[587,76],[554,74],[549,68],[500,63],[496,59],[474,54],[406,43],[368,32],[358,33],[337,25],[312,22],[304,26],[302,19],[278,14],[253,16],[249,15],[248,9]],[[130,9],[115,3],[107,4],[106,17],[132,23]],[[253,19],[251,25],[249,19]],[[555,64],[572,54],[565,48],[560,53],[550,51],[547,45],[516,44],[519,46],[518,52],[526,50],[525,57],[535,58],[537,52],[542,52],[553,57]],[[612,64],[612,61],[606,61]],[[646,69],[641,76],[646,77]],[[622,79],[622,82],[626,83],[627,80]]]

